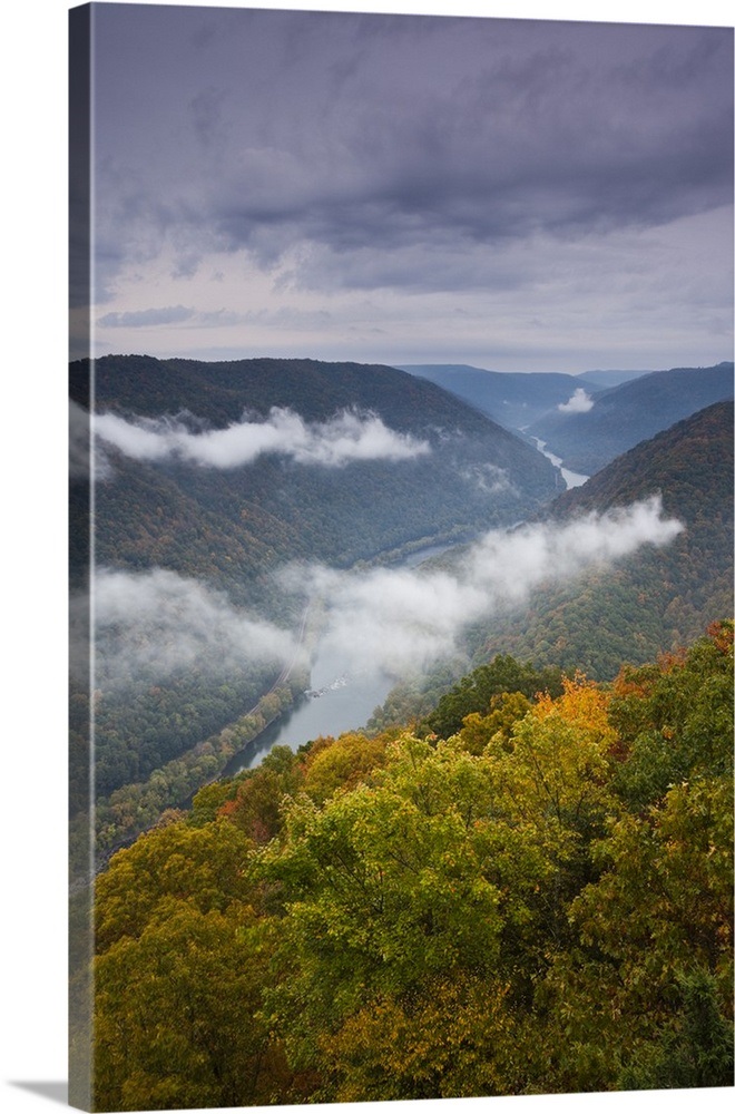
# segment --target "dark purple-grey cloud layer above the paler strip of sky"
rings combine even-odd
[[[267,267],[306,242],[369,285],[378,251],[732,199],[726,29],[124,6],[99,32],[102,193],[134,253]]]

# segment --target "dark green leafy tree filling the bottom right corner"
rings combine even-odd
[[[729,779],[699,778],[594,846],[537,990],[549,1091],[732,1084],[732,809]]]

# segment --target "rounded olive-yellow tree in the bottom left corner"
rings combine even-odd
[[[239,902],[170,898],[159,912],[95,962],[96,1108],[270,1102],[290,1074],[258,1013],[267,926]]]

